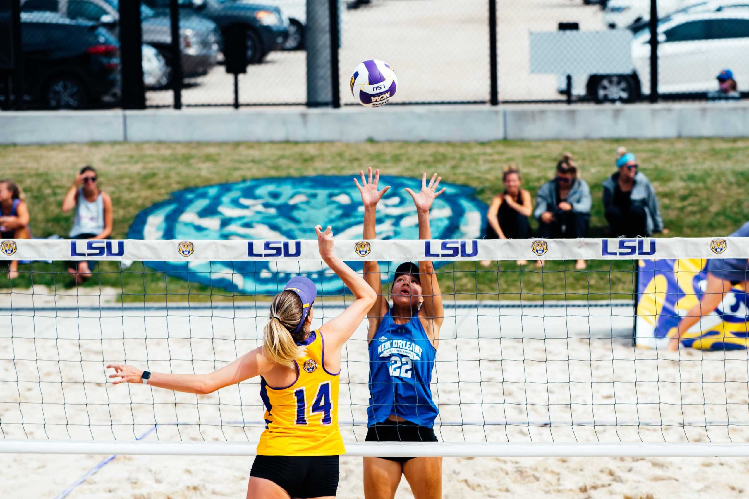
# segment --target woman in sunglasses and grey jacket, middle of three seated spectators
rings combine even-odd
[[[587,238],[591,205],[590,187],[578,178],[572,155],[565,153],[557,163],[557,177],[542,185],[536,194],[533,217],[540,224],[539,238]],[[539,260],[536,266],[542,264]],[[585,260],[577,260],[574,267],[584,269]]]

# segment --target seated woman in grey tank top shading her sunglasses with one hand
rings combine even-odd
[[[70,239],[106,239],[112,234],[112,198],[97,187],[97,173],[93,166],[84,166],[67,190],[62,212],[67,213],[73,208],[76,208],[76,215]],[[75,276],[78,284],[91,277],[88,261],[68,261],[67,266],[67,271]]]

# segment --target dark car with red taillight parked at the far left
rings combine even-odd
[[[58,13],[22,13],[21,37],[23,100],[30,106],[84,109],[119,100],[119,43],[106,29]]]

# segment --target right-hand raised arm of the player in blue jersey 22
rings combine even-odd
[[[406,188],[407,193],[413,198],[413,204],[416,205],[416,213],[419,216],[419,239],[431,239],[429,209],[434,199],[437,199],[437,196],[445,192],[444,188],[437,192],[437,186],[440,185],[441,179],[435,173],[427,185],[425,173],[422,177],[422,190],[419,193],[414,193],[413,190]],[[424,304],[419,311],[419,317],[424,318],[428,321],[428,324],[431,324],[435,348],[437,348],[437,341],[440,339],[440,327],[442,327],[445,313],[442,306],[440,283],[437,282],[437,274],[434,273],[433,262],[431,260],[419,261],[419,274],[419,277],[421,277],[422,294],[424,296]]]

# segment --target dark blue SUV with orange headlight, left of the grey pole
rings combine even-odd
[[[261,62],[268,52],[282,50],[288,38],[288,19],[278,7],[234,0],[179,0],[180,7],[191,9],[219,26],[222,38],[228,28],[242,26],[247,34],[247,61]],[[169,12],[169,0],[143,0],[158,13]]]

